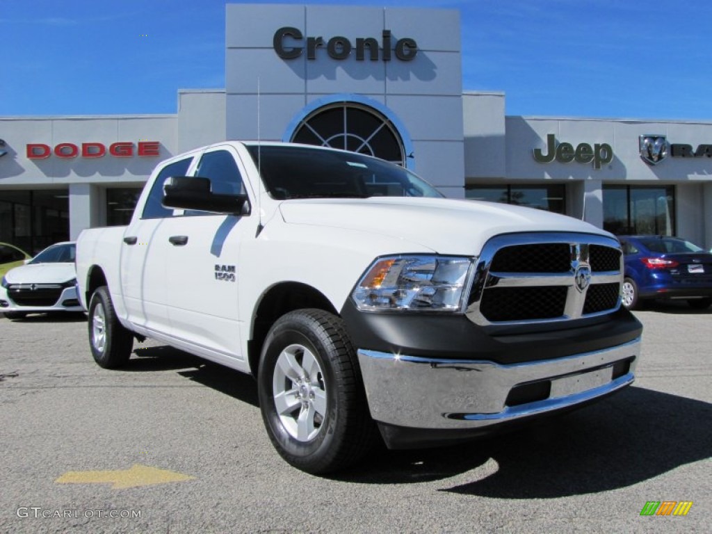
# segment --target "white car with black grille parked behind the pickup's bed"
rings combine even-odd
[[[57,243],[8,271],[0,284],[0,313],[21,319],[28,313],[83,311],[77,295],[75,253],[73,242]]]

